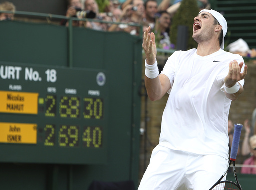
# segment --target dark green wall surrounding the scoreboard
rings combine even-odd
[[[0,62],[106,70],[107,163],[0,163],[1,190],[86,190],[92,180],[138,185],[142,39],[85,28],[73,28],[71,41],[69,34],[63,26],[0,22]]]

